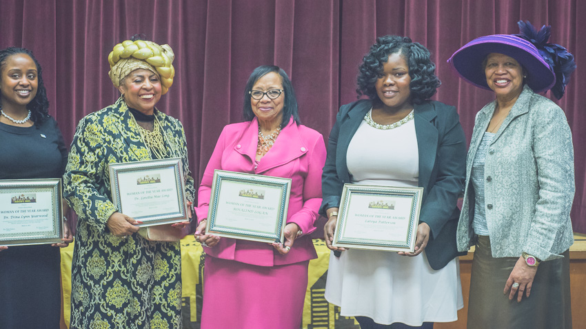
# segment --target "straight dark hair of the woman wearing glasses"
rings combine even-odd
[[[250,105],[250,90],[254,86],[256,81],[259,81],[262,77],[269,74],[270,72],[275,72],[281,76],[281,82],[283,83],[283,94],[285,94],[285,104],[283,106],[283,121],[281,121],[281,128],[287,126],[291,116],[293,116],[293,120],[295,123],[300,124],[301,121],[299,120],[299,112],[297,111],[297,99],[295,97],[295,91],[293,90],[293,85],[289,77],[287,77],[287,73],[279,66],[274,65],[263,65],[255,68],[254,71],[248,77],[248,81],[244,88],[244,119],[246,121],[252,121],[254,119],[254,112],[252,112],[252,106]]]

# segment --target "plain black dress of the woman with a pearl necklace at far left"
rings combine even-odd
[[[61,178],[67,156],[53,118],[38,128],[0,123],[0,179]],[[60,273],[50,244],[1,251],[0,328],[59,328]]]

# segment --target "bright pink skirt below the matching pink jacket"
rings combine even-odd
[[[265,267],[206,255],[201,328],[299,329],[309,263]]]

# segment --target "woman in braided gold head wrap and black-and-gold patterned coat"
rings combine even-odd
[[[168,45],[124,41],[110,52],[116,103],[79,121],[64,175],[77,212],[71,328],[181,328],[179,242],[150,241],[112,203],[110,163],[179,157],[189,208],[193,179],[183,126],[155,108],[173,82]],[[181,228],[183,224],[174,224]]]

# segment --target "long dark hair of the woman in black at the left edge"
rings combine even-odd
[[[37,95],[27,104],[26,108],[30,110],[30,119],[34,121],[34,125],[39,127],[43,121],[49,118],[49,99],[47,98],[47,90],[43,83],[43,70],[30,50],[16,47],[8,47],[0,50],[0,70],[6,66],[6,59],[14,54],[27,54],[34,61],[34,65],[37,66]],[[0,79],[2,79],[1,75]]]

